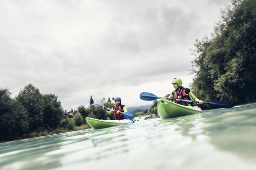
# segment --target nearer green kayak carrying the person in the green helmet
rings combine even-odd
[[[157,103],[157,113],[162,119],[197,114],[201,111],[200,107],[183,106],[165,99],[161,99]]]

